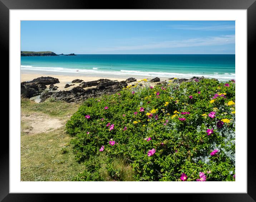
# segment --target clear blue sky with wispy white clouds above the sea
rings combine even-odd
[[[235,21],[21,21],[21,50],[235,54]]]

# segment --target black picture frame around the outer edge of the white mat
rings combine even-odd
[[[253,53],[256,33],[256,0],[130,0],[125,4],[123,1],[88,1],[88,0],[0,0],[0,40],[1,55],[5,58],[9,66],[9,10],[10,9],[245,9],[247,10],[247,71],[248,66],[254,65]],[[246,67],[245,67],[246,69]],[[9,75],[9,72],[7,72]],[[249,77],[248,77],[249,76]],[[251,76],[251,78],[250,78]],[[252,74],[247,73],[247,81],[253,80]],[[247,95],[249,95],[250,86],[248,85]],[[8,95],[8,93],[7,93]],[[7,96],[6,96],[7,97]],[[9,97],[9,96],[8,96]],[[9,99],[9,98],[8,98]],[[247,101],[250,106],[252,101]],[[9,104],[9,108],[10,108]],[[247,110],[248,111],[248,110]],[[248,114],[248,113],[247,113]],[[247,118],[247,126],[253,125],[253,119]],[[196,193],[196,194],[176,194],[179,200],[184,201],[232,201],[232,202],[251,202],[256,201],[256,175],[255,175],[255,155],[254,141],[255,133],[245,131],[247,136],[247,193]],[[51,201],[58,197],[58,201],[68,201],[69,198],[76,200],[81,195],[74,194],[44,194],[44,193],[9,193],[9,137],[2,136],[2,142],[7,146],[0,152],[0,201]],[[92,195],[92,194],[88,194]],[[95,200],[109,198],[110,194],[100,194]],[[133,193],[124,193],[122,196],[113,197],[112,201],[131,201],[134,200]],[[180,196],[182,195],[182,196]],[[83,195],[84,196],[84,195]],[[82,197],[83,197],[82,196]],[[174,196],[174,195],[173,195]],[[173,197],[171,196],[171,197]],[[174,196],[174,197],[175,197]],[[90,196],[87,196],[90,197]],[[94,197],[94,196],[93,196]],[[137,197],[137,196],[136,196]],[[144,195],[143,201],[152,200],[151,195]],[[159,196],[157,196],[159,197]],[[161,196],[164,198],[170,197]],[[173,199],[174,199],[173,197]],[[160,199],[160,198],[159,198]],[[84,198],[83,200],[87,200]],[[177,199],[176,199],[177,200]],[[91,201],[91,200],[89,200]]]

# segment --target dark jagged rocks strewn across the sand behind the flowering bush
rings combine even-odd
[[[177,79],[181,82],[191,82],[193,80],[201,80],[204,77],[192,77],[191,79]],[[169,80],[174,79],[170,78]],[[95,81],[83,82],[83,80],[75,79],[72,83],[80,83],[78,86],[73,87],[71,90],[58,90],[58,86],[54,84],[59,83],[59,79],[54,77],[38,77],[28,82],[21,82],[21,96],[22,97],[34,97],[40,95],[40,102],[44,102],[48,98],[54,98],[55,100],[65,102],[83,102],[84,100],[91,97],[99,97],[102,95],[114,94],[124,87],[128,86],[129,83],[136,82],[137,80],[130,77],[124,81],[109,80],[109,79],[98,79]],[[155,85],[165,85],[166,80],[160,82],[158,77],[149,80],[149,82],[156,83]],[[46,85],[50,85],[49,89]],[[66,84],[67,87],[72,86]],[[134,84],[132,84],[134,85]],[[87,88],[87,89],[84,89]]]

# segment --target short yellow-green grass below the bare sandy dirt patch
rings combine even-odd
[[[21,132],[21,181],[71,181],[82,172],[85,165],[74,160],[70,139],[64,127],[34,135]]]

